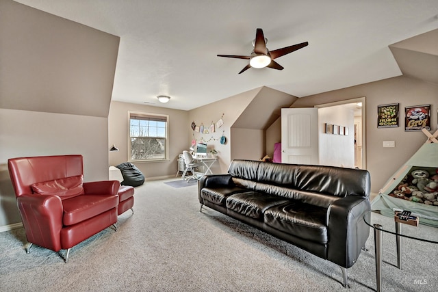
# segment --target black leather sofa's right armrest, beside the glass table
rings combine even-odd
[[[327,211],[329,261],[346,268],[355,264],[370,235],[370,227],[363,222],[370,209],[370,200],[362,196],[346,196],[331,204]]]

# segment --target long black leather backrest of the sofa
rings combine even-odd
[[[366,170],[233,160],[229,174],[233,176],[233,180],[241,181],[242,185],[244,180],[255,182],[256,191],[261,191],[257,187],[257,183],[261,183],[339,198],[350,195],[370,196],[370,173]]]

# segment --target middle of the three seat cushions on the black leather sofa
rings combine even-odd
[[[278,204],[287,202],[287,199],[256,191],[233,194],[226,200],[226,207],[236,213],[263,220],[263,212]]]

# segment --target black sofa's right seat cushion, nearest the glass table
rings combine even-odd
[[[289,201],[271,207],[264,213],[266,225],[284,233],[323,244],[329,240],[326,217],[326,208],[300,201]]]

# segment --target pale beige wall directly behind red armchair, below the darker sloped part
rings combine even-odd
[[[107,129],[107,118],[0,109],[0,227],[21,222],[8,159],[81,154],[84,180],[106,180]]]

